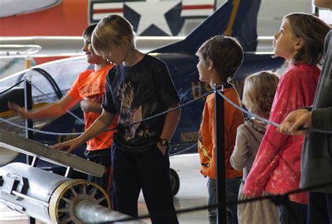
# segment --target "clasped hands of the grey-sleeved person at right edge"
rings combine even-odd
[[[300,130],[300,128],[305,128],[305,130]],[[310,128],[312,128],[312,112],[307,109],[299,109],[289,113],[277,131],[284,134],[307,136]]]

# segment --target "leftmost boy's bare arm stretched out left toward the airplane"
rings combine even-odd
[[[12,102],[8,102],[8,106],[11,110],[15,111],[23,118],[56,118],[66,113],[66,111],[75,106],[78,101],[79,99],[76,99],[69,96],[69,94],[66,94],[58,102],[42,106],[39,109],[33,109],[31,111],[26,111],[25,109],[20,108],[18,104]]]

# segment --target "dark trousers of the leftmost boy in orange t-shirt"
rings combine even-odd
[[[104,175],[101,178],[88,175],[88,181],[97,183],[99,186],[101,186],[106,191],[107,195],[109,195],[109,198],[111,199],[113,197],[111,189],[111,176],[112,176],[111,148],[95,150],[95,151],[86,150],[84,152],[84,155],[91,162],[95,162],[105,167]]]

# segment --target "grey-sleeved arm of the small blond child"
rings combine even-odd
[[[235,147],[230,156],[230,164],[234,169],[242,170],[247,162],[249,152],[249,141],[244,125],[237,127]]]

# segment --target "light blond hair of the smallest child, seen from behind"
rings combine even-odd
[[[242,102],[251,113],[270,116],[279,77],[270,71],[260,71],[244,81]]]

